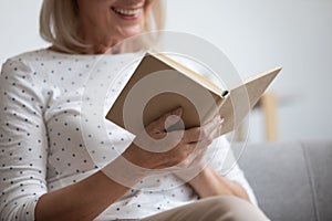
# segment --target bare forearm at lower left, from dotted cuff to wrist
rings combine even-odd
[[[42,196],[35,207],[40,220],[93,220],[124,196],[145,175],[132,170],[123,156],[89,178]],[[114,175],[115,178],[114,179]],[[124,178],[122,182],[121,178]]]

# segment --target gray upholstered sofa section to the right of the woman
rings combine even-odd
[[[250,144],[239,165],[271,220],[332,220],[332,140]]]

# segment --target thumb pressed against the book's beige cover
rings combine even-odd
[[[162,133],[172,125],[175,125],[181,119],[183,108],[178,107],[169,113],[164,114],[158,119],[147,125],[149,131]]]

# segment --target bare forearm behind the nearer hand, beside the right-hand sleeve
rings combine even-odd
[[[211,167],[206,167],[188,183],[201,198],[225,194],[249,200],[247,191],[239,183],[220,176]]]

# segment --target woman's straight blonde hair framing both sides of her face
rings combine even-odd
[[[164,0],[154,0],[145,31],[162,30],[165,24]],[[40,35],[66,53],[81,53],[89,48],[77,35],[76,0],[43,0],[40,13]]]

